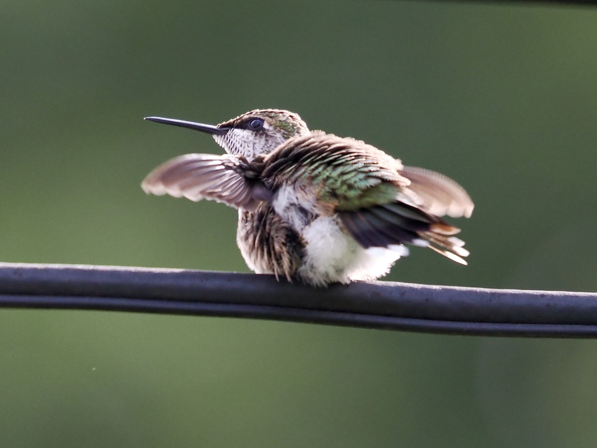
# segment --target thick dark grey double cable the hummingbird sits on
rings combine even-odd
[[[597,337],[597,293],[361,282],[313,289],[269,275],[0,263],[0,307],[248,317],[429,333]]]

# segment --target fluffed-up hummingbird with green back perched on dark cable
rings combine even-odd
[[[408,167],[351,137],[310,131],[296,113],[256,109],[218,125],[145,119],[211,134],[226,154],[186,154],[151,171],[147,194],[238,209],[236,241],[257,274],[313,287],[375,280],[428,247],[466,265],[460,229],[473,202],[454,180]]]

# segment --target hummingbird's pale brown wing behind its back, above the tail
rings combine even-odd
[[[437,216],[470,217],[475,204],[469,195],[450,177],[436,171],[404,167],[401,174],[411,181],[408,189],[423,202],[425,210]]]

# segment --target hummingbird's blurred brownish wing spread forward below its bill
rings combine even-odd
[[[235,155],[186,154],[155,168],[141,183],[147,194],[203,198],[254,210],[271,192],[244,158]]]

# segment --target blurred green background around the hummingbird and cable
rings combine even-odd
[[[387,280],[597,290],[597,8],[3,2],[0,259],[247,272],[236,212],[143,194],[220,152],[141,118],[300,113],[458,180],[463,266]],[[1,446],[594,447],[597,342],[0,310]]]

